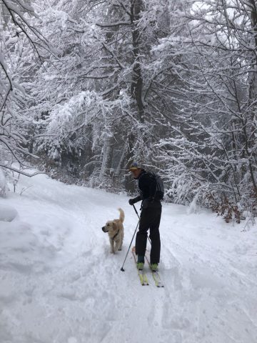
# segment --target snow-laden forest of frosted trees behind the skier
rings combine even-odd
[[[256,0],[0,0],[0,167],[257,215]],[[14,180],[17,182],[17,180]]]

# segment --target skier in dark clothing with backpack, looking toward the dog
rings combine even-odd
[[[150,229],[151,239],[151,270],[156,272],[158,263],[160,262],[161,240],[159,225],[161,221],[161,201],[156,197],[156,179],[140,164],[133,162],[129,171],[133,174],[133,178],[138,180],[138,189],[140,195],[138,197],[129,199],[129,204],[133,205],[136,202],[141,203],[141,216],[136,234],[136,255],[137,268],[143,269],[144,255],[146,253],[147,232]]]

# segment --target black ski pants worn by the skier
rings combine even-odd
[[[160,262],[161,239],[159,225],[161,221],[161,207],[142,209],[139,228],[136,234],[136,254],[146,254],[147,232],[150,229],[151,263]]]

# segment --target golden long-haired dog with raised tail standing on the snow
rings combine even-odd
[[[124,239],[124,210],[119,209],[119,212],[119,219],[110,220],[109,222],[106,222],[104,227],[102,227],[102,230],[104,232],[108,232],[109,234],[112,254],[122,249],[122,243]]]

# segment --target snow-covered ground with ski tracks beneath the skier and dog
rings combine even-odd
[[[113,255],[101,227],[118,207]],[[256,226],[164,204],[158,289],[151,274],[141,286],[131,254],[120,271],[137,224],[124,195],[21,177],[0,220],[1,343],[257,342]]]

